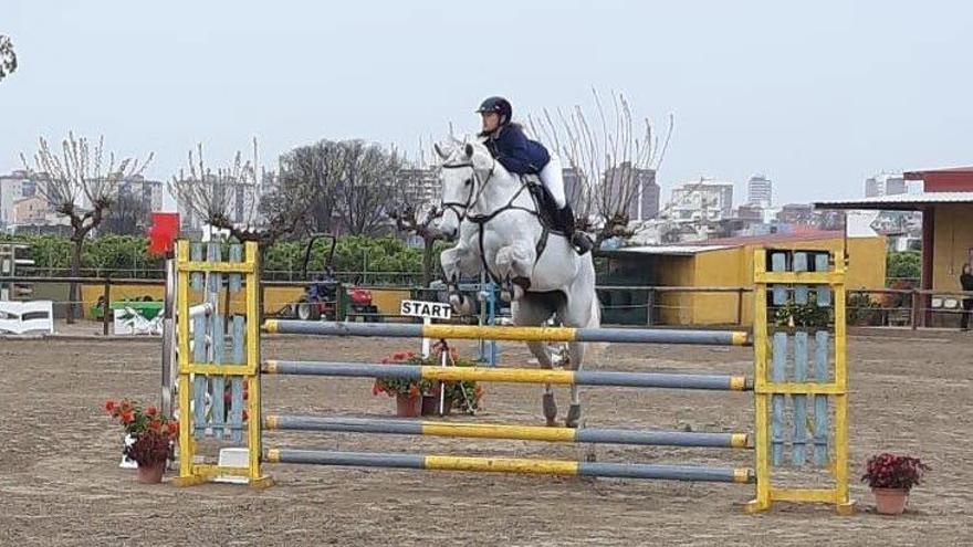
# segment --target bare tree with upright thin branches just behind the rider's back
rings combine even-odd
[[[629,207],[639,197],[638,171],[658,169],[672,136],[673,118],[662,143],[652,124],[645,118],[638,127],[631,106],[622,94],[613,95],[611,113],[606,113],[598,93],[593,90],[595,115],[582,106],[552,115],[544,111],[540,119],[530,119],[535,135],[554,144],[566,159],[576,179],[569,189],[578,229],[595,234],[597,246],[610,238],[628,238]]]

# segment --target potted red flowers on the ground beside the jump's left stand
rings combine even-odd
[[[160,483],[166,462],[172,456],[172,441],[179,434],[179,423],[159,414],[155,407],[143,409],[142,404],[128,399],[107,401],[104,408],[135,440],[125,445],[124,453],[138,464],[137,481]]]

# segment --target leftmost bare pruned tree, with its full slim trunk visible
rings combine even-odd
[[[154,157],[149,154],[143,162],[132,158],[116,162],[115,154],[109,152],[106,166],[103,162],[104,145],[104,137],[92,146],[86,138],[75,138],[69,133],[60,156],[51,151],[43,137],[39,139],[33,167],[21,154],[24,167],[38,180],[38,191],[55,212],[71,222],[71,275],[75,277],[81,274],[84,242],[117,200],[119,182],[142,175]],[[75,283],[71,284],[69,298],[67,322],[74,323],[79,301]]]

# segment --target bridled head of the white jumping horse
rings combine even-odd
[[[468,210],[480,197],[482,185],[493,168],[493,157],[479,141],[451,141],[433,145],[433,148],[442,159],[439,172],[442,202],[436,229],[452,240],[459,234]]]

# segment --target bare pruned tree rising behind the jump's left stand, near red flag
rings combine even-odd
[[[307,200],[296,193],[303,190],[300,186],[278,185],[261,196],[254,169],[257,139],[253,157],[244,161],[237,151],[229,164],[213,170],[203,159],[202,145],[197,145],[196,154],[189,151],[188,170],[172,177],[169,190],[180,208],[207,224],[263,249],[304,224]]]

